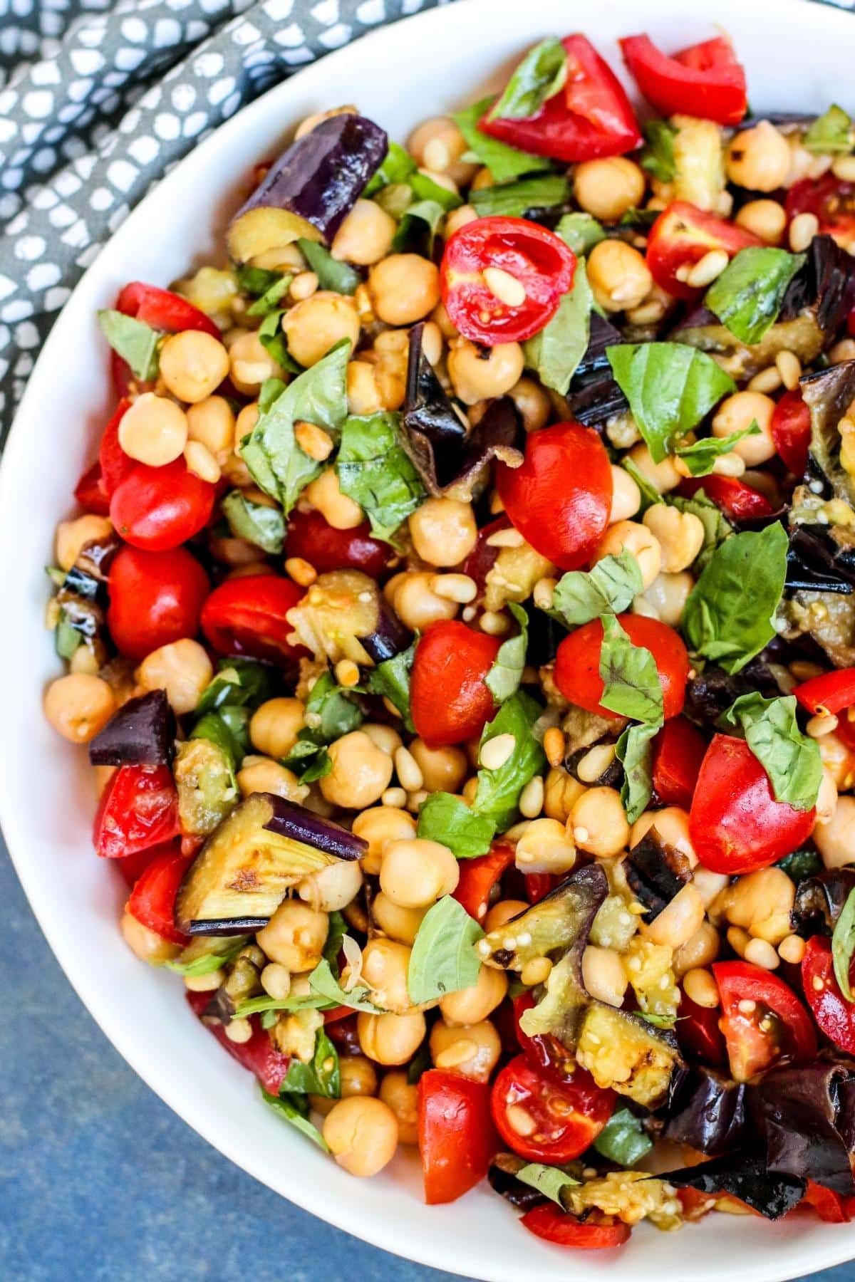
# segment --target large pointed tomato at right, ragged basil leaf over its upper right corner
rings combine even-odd
[[[714,873],[751,873],[808,840],[815,810],[776,801],[767,772],[742,738],[717,735],[706,749],[688,815],[697,858]]]

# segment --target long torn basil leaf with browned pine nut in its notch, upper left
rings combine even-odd
[[[350,340],[342,338],[272,404],[261,409],[259,400],[258,422],[241,444],[253,479],[279,503],[286,515],[309,482],[323,472],[323,464],[310,459],[297,445],[294,424],[305,420],[337,435],[347,417],[349,356]]]

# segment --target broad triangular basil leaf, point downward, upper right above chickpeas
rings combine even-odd
[[[623,342],[606,355],[654,463],[736,391],[711,356],[682,342]]]

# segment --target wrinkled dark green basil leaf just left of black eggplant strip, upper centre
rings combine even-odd
[[[372,533],[395,544],[392,535],[427,492],[399,440],[400,414],[383,410],[351,415],[341,432],[336,472],[342,494],[364,509]]]

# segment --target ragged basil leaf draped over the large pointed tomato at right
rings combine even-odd
[[[802,735],[796,720],[796,696],[764,699],[752,691],[741,695],[718,724],[745,736],[763,769],[769,776],[776,801],[795,810],[810,810],[817,804],[823,779],[819,745]]]

